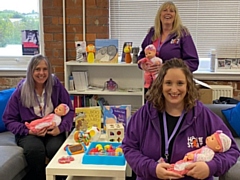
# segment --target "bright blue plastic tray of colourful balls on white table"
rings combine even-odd
[[[91,154],[90,151],[93,148],[96,148],[96,146],[112,146],[113,149],[115,149],[114,154],[103,152],[102,154]],[[116,152],[116,149],[121,146],[121,143],[117,142],[92,142],[90,146],[88,147],[87,151],[84,153],[83,158],[82,158],[82,163],[83,164],[95,164],[95,165],[119,165],[123,166],[126,163],[125,157],[123,153],[118,153]],[[117,153],[117,154],[115,154]]]

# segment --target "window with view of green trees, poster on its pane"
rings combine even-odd
[[[42,0],[0,0],[0,70],[26,69],[43,53]]]

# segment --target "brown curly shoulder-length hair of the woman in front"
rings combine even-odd
[[[146,99],[153,104],[159,111],[165,110],[165,97],[163,95],[163,81],[164,77],[169,69],[181,69],[186,76],[187,80],[187,93],[184,98],[184,109],[189,111],[195,105],[196,100],[199,99],[199,92],[196,84],[193,80],[193,74],[189,70],[188,66],[182,59],[172,58],[166,61],[158,74],[158,77],[154,80],[151,88],[146,94]]]

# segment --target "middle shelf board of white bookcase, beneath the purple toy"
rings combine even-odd
[[[97,94],[97,95],[114,95],[114,96],[143,96],[143,92],[121,92],[121,91],[101,91],[101,90],[85,90],[85,91],[68,91],[69,94]]]

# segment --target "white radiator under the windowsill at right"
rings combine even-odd
[[[228,85],[210,85],[212,89],[212,100],[222,97],[233,97],[233,87]]]

